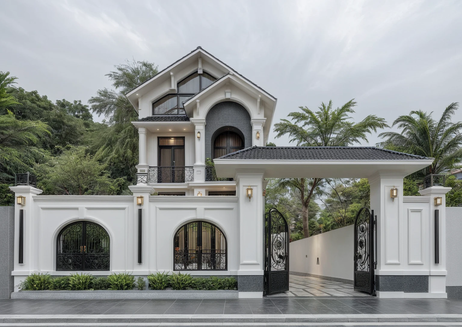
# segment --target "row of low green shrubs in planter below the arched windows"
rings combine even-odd
[[[210,277],[193,278],[188,273],[156,273],[147,276],[150,290],[236,290],[234,278]],[[144,290],[145,279],[128,273],[113,273],[95,278],[88,273],[73,273],[70,276],[52,277],[49,274],[32,274],[18,285],[21,291],[82,291],[82,290]]]

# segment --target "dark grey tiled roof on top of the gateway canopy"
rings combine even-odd
[[[252,146],[219,159],[241,160],[429,160],[375,146]]]

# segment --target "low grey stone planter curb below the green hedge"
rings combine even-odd
[[[19,291],[12,299],[30,300],[144,300],[144,299],[237,299],[238,291]]]

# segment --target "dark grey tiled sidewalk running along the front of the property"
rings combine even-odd
[[[0,300],[0,315],[462,314],[462,299]]]

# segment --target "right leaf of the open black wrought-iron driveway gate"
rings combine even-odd
[[[354,221],[354,289],[375,293],[374,210],[362,207]]]

